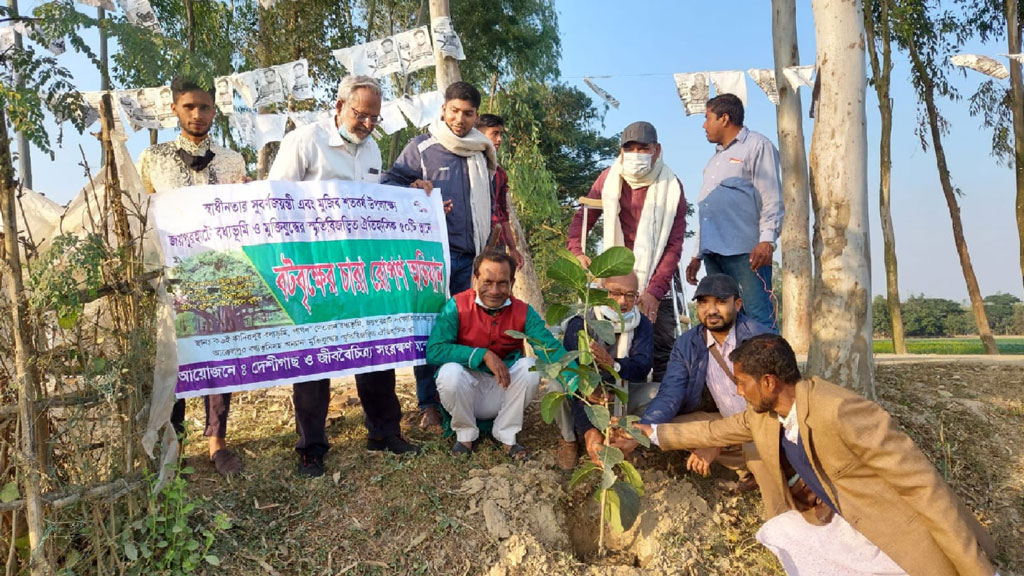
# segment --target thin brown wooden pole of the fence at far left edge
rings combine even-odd
[[[6,250],[7,298],[11,303],[11,332],[14,344],[14,380],[22,438],[18,446],[22,486],[25,490],[25,518],[29,526],[29,569],[32,576],[53,573],[44,548],[46,519],[43,516],[42,459],[38,453],[39,415],[36,408],[39,375],[36,349],[29,327],[28,296],[22,279],[20,248],[17,242],[14,168],[7,135],[7,113],[0,107],[0,212],[3,214],[3,242]]]

